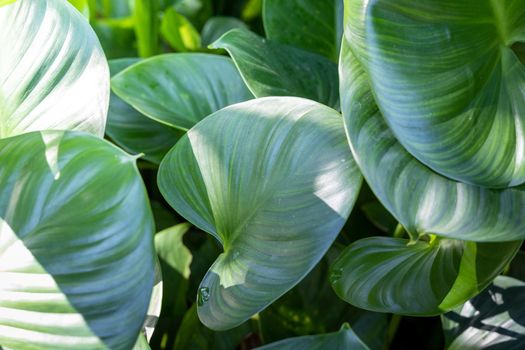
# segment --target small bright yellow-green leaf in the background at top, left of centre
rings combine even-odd
[[[161,33],[176,51],[196,51],[201,47],[199,32],[186,17],[177,13],[173,8],[164,12]]]

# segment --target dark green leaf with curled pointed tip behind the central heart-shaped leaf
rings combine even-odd
[[[210,45],[226,49],[256,97],[298,96],[339,105],[337,67],[328,59],[233,29]]]

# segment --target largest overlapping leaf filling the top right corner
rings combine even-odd
[[[525,182],[525,0],[347,0],[346,36],[403,146],[437,172]],[[431,82],[431,83],[430,83]]]

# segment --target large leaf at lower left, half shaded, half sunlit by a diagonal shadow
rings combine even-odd
[[[153,287],[135,159],[95,136],[0,140],[0,344],[130,349]]]

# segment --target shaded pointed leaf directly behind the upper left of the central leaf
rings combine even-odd
[[[113,91],[144,115],[186,131],[211,113],[252,98],[229,58],[166,54],[112,80]]]

